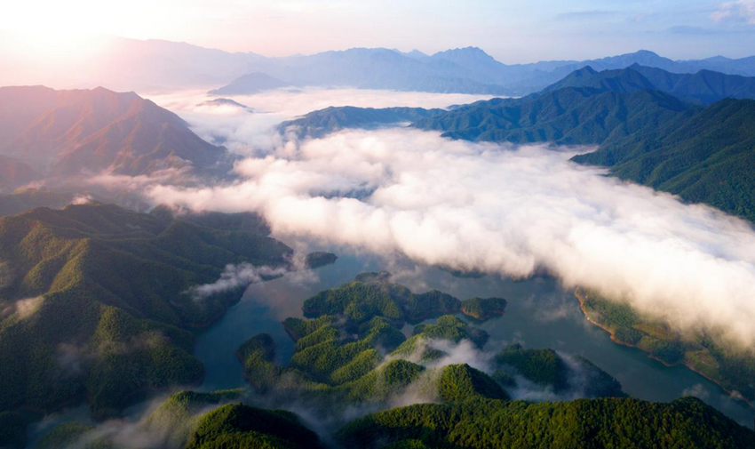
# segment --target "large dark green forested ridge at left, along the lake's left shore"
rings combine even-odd
[[[246,230],[115,205],[0,219],[0,410],[86,399],[97,418],[153,389],[199,381],[191,329],[240,292],[195,301],[227,264],[284,267],[290,248]]]

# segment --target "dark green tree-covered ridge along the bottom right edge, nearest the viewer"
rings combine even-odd
[[[409,405],[354,420],[346,447],[743,448],[755,433],[694,397],[672,403],[632,398],[532,404],[477,399]]]

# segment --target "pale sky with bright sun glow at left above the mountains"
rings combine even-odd
[[[351,47],[481,47],[505,63],[648,49],[673,59],[755,49],[755,0],[6,0],[0,50],[83,51],[94,36],[267,56]]]

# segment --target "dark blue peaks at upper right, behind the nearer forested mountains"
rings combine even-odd
[[[656,90],[697,104],[710,104],[725,98],[755,99],[755,77],[725,75],[710,70],[677,74],[638,64],[601,72],[591,67],[581,68],[548,86],[544,92],[564,87],[588,87],[600,92]]]

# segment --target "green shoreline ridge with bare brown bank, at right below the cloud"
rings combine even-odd
[[[642,349],[666,365],[686,365],[750,404],[755,402],[755,349],[737,349],[712,333],[677,333],[592,291],[579,289],[575,294],[585,317],[608,331],[611,340]]]

